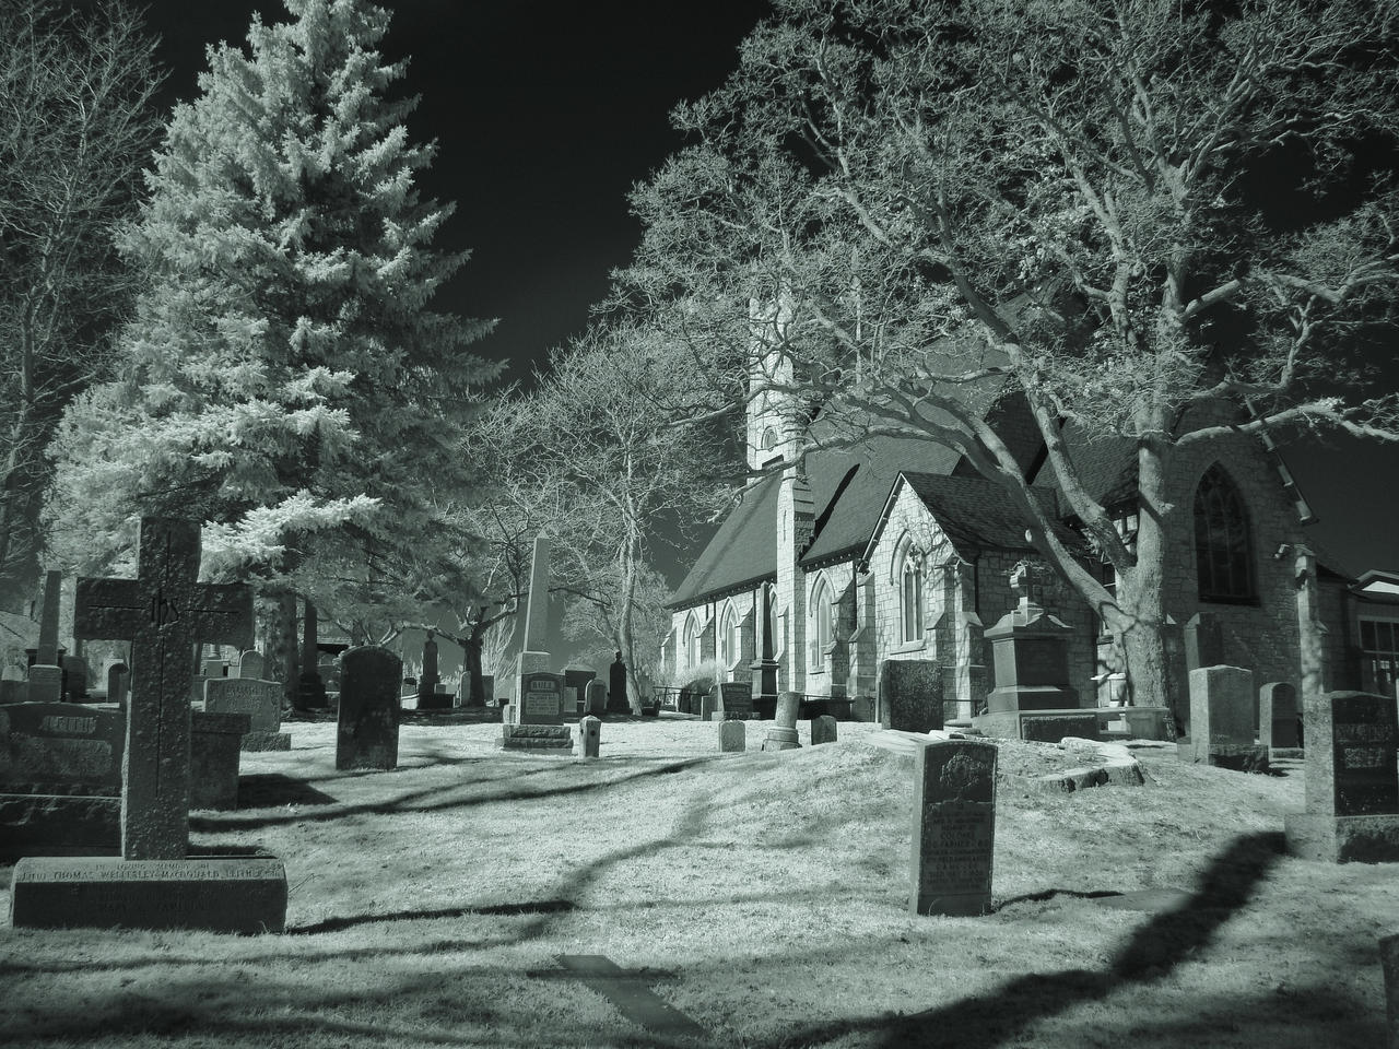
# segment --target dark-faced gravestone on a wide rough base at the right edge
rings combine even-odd
[[[1399,862],[1399,711],[1392,695],[1328,692],[1302,708],[1307,811],[1287,850],[1328,863]]]

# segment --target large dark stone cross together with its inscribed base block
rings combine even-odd
[[[197,573],[199,524],[145,518],[136,579],[78,580],[74,636],[130,641],[136,667],[122,761],[122,860],[25,857],[15,864],[10,890],[15,927],[285,926],[287,871],[280,860],[186,860],[190,653],[196,638],[234,645],[252,639],[252,590],[199,583]]]

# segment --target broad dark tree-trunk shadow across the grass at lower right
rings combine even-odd
[[[1157,913],[1137,929],[1105,971],[1028,973],[989,994],[940,1008],[809,1027],[775,1045],[817,1045],[851,1031],[874,1034],[874,1045],[887,1049],[949,1045],[996,1049],[1016,1043],[1031,1024],[1105,999],[1123,986],[1158,979],[1206,947],[1248,902],[1277,862],[1281,846],[1283,835],[1277,832],[1237,838],[1205,871],[1195,894],[1182,906]]]

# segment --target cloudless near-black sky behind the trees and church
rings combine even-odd
[[[582,330],[588,309],[639,235],[627,190],[681,145],[670,108],[716,88],[765,0],[530,3],[399,0],[385,49],[411,56],[421,95],[409,129],[436,138],[428,194],[453,200],[446,246],[473,256],[442,294],[466,316],[498,317],[478,350],[515,378]],[[187,99],[204,45],[242,43],[277,0],[154,0],[148,21],[171,70],[165,101]],[[1392,375],[1392,372],[1391,372]],[[1340,441],[1286,457],[1321,518],[1316,538],[1353,572],[1399,569],[1399,450]]]

